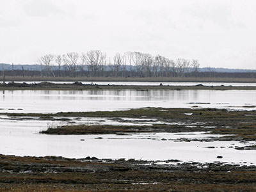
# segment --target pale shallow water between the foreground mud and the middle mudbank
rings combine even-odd
[[[53,124],[58,124],[54,122]],[[256,164],[255,150],[235,150],[235,146],[255,144],[239,141],[177,142],[179,138],[209,138],[208,132],[143,133],[131,135],[47,135],[38,134],[51,121],[0,120],[0,153],[16,156],[63,156],[84,158],[179,159],[184,162]],[[101,137],[102,139],[97,139]],[[164,141],[162,139],[165,139]],[[215,148],[207,148],[215,147]],[[223,159],[217,159],[223,156]],[[246,163],[244,163],[246,162]]]

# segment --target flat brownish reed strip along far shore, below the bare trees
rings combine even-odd
[[[3,76],[0,82],[3,82]],[[198,83],[256,83],[255,78],[236,77],[41,77],[6,76],[4,81],[124,81],[124,82],[198,82]]]

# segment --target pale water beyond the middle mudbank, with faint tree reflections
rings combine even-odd
[[[0,112],[57,113],[60,111],[115,111],[131,108],[243,108],[256,106],[255,90],[6,90]],[[22,109],[22,110],[19,110]]]

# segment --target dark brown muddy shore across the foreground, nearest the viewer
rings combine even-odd
[[[0,191],[256,191],[256,166],[0,155]]]

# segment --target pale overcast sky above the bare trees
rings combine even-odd
[[[256,69],[255,0],[1,0],[0,63],[140,51]]]

